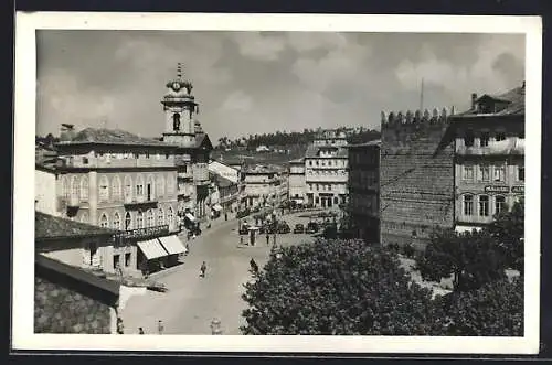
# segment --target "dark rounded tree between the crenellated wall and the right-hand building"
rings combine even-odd
[[[454,290],[477,289],[505,276],[505,260],[488,232],[436,229],[417,261],[426,280],[453,277]]]

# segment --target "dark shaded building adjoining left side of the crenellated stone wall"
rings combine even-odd
[[[380,240],[381,141],[349,144],[349,229],[368,243]]]

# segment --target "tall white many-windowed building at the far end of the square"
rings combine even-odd
[[[339,207],[347,202],[347,136],[336,130],[317,135],[305,154],[305,193],[310,206]]]

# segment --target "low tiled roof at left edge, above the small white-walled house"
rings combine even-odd
[[[34,212],[34,239],[109,236],[117,230]]]

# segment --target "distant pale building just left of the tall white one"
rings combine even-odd
[[[276,203],[282,181],[275,170],[255,165],[244,171],[244,185],[245,206],[264,206]]]

